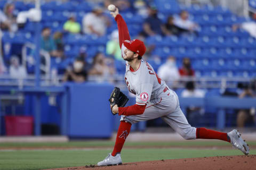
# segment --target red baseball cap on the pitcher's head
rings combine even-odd
[[[144,55],[146,52],[146,46],[144,45],[143,41],[139,39],[133,39],[131,41],[124,40],[124,46],[130,49],[132,52],[139,54],[140,56]]]

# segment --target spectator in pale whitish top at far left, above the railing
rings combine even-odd
[[[25,79],[27,77],[27,70],[23,65],[20,65],[19,58],[17,56],[12,56],[10,62],[9,73],[11,77]]]

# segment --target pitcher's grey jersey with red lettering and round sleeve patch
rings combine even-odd
[[[125,49],[126,47],[122,45],[122,56]],[[153,67],[142,59],[139,68],[134,71],[131,71],[130,65],[126,62],[125,83],[128,90],[136,95],[137,105],[145,105],[150,100],[161,98],[164,92],[169,90]]]

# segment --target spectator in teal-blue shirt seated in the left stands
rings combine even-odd
[[[57,48],[51,36],[51,29],[48,27],[42,30],[41,48],[49,52],[51,56],[57,56]]]

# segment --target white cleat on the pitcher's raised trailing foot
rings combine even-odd
[[[228,132],[228,136],[233,147],[241,150],[245,155],[249,154],[249,145],[242,139],[241,134],[236,129]]]

